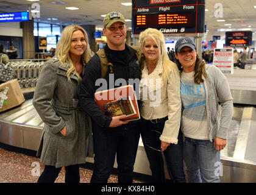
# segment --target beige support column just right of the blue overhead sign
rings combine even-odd
[[[35,58],[34,19],[21,22],[23,29],[23,59]]]

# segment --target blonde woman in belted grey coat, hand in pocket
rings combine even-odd
[[[45,165],[38,183],[54,182],[65,166],[65,182],[79,183],[79,164],[85,163],[91,136],[90,117],[77,104],[85,64],[91,58],[87,33],[67,26],[55,57],[45,63],[34,93],[33,105],[44,122],[37,156]]]

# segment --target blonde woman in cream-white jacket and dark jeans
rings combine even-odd
[[[180,78],[168,58],[162,32],[146,29],[140,34],[141,138],[152,171],[152,182],[165,182],[162,151],[171,179],[186,182],[180,132]]]

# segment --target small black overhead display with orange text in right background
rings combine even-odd
[[[252,31],[226,32],[226,46],[251,46]]]

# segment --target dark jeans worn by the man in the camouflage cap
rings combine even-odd
[[[93,124],[94,169],[91,183],[107,183],[116,161],[118,182],[133,182],[133,165],[138,149],[138,127],[107,130]]]

